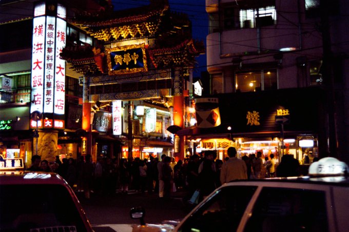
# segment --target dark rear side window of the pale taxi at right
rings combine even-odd
[[[264,187],[244,231],[328,231],[324,191]]]

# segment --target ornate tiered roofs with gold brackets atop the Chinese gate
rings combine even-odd
[[[204,43],[192,40],[191,23],[184,13],[171,12],[168,4],[153,4],[122,11],[81,14],[70,21],[101,44],[148,38],[146,47],[150,69],[193,66],[195,57],[205,52]],[[68,45],[61,56],[75,71],[85,75],[107,73],[103,46]]]

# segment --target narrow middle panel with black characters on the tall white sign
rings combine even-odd
[[[53,113],[56,18],[46,17],[44,112]]]

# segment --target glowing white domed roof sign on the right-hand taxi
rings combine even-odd
[[[325,157],[309,166],[309,176],[335,176],[347,175],[349,167],[333,157]]]

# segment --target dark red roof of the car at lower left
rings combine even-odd
[[[0,184],[59,184],[67,185],[57,173],[43,171],[0,171]]]

